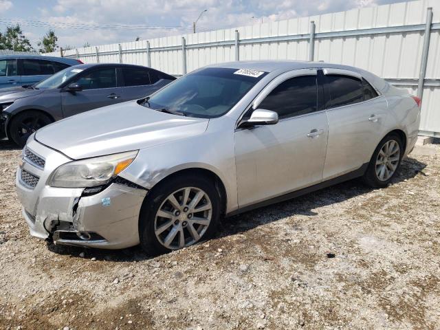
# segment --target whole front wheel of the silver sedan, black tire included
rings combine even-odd
[[[186,191],[188,197],[185,197]],[[174,205],[170,202],[171,195],[176,199]],[[195,198],[196,195],[200,197],[199,201]],[[184,199],[186,203],[183,203]],[[179,208],[175,207],[176,201],[179,203]],[[195,203],[194,207],[191,205],[192,201]],[[208,210],[209,203],[211,207]],[[203,208],[207,209],[197,211]],[[142,204],[139,219],[142,250],[148,255],[155,256],[208,239],[217,229],[220,208],[219,193],[212,179],[196,175],[181,175],[166,179],[148,193]],[[182,234],[184,244],[181,241]],[[170,237],[173,239],[168,241]]]

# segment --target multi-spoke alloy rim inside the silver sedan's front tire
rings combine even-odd
[[[166,197],[157,210],[154,231],[157,240],[169,250],[197,243],[212,218],[212,203],[203,190],[185,187]]]

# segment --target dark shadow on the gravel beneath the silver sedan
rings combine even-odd
[[[411,157],[404,159],[399,173],[393,178],[392,184],[411,179],[419,173],[423,175],[423,169],[425,167],[426,164],[419,162],[417,159]],[[371,192],[371,190],[373,190],[373,188],[369,188],[363,184],[362,180],[353,179],[329,188],[311,192],[295,199],[225,218],[221,220],[219,230],[212,239],[242,234],[260,225],[278,221],[285,217],[292,217],[296,214],[317,215],[318,213],[314,212],[315,208],[340,203],[347,199],[364,195],[367,192]],[[47,243],[47,248],[56,254],[67,254],[71,256],[80,256],[81,252],[84,252],[85,258],[96,258],[96,260],[102,261],[133,262],[154,258],[145,254],[140,246],[123,250],[98,250]]]

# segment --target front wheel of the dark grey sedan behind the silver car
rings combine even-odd
[[[34,133],[34,131],[41,129],[41,127],[52,122],[52,118],[41,111],[23,111],[12,117],[8,129],[9,137],[18,146],[23,148],[28,140],[28,137]]]

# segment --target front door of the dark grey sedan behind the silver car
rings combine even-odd
[[[122,102],[122,88],[117,87],[115,67],[92,69],[79,76],[75,83],[83,90],[63,91],[61,102],[64,117]]]

